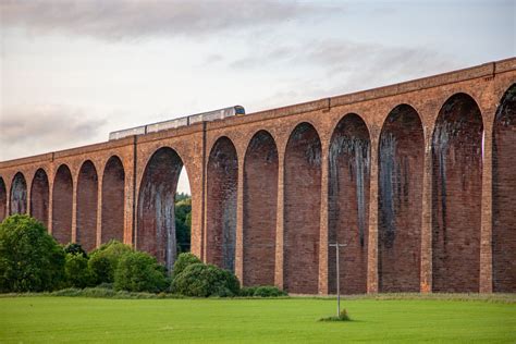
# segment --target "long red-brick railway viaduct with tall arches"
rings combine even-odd
[[[192,250],[291,293],[516,292],[516,59],[0,162],[0,219],[61,243]]]

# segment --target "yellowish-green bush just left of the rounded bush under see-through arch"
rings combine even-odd
[[[89,254],[88,267],[94,284],[113,283],[114,271],[122,256],[133,253],[128,245],[110,241]]]

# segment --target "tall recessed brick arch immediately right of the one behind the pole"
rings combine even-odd
[[[419,292],[425,134],[413,107],[389,113],[378,161],[379,292]]]

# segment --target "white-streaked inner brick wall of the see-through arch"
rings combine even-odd
[[[148,160],[139,185],[136,247],[172,269],[177,251],[175,192],[183,160],[161,147]]]

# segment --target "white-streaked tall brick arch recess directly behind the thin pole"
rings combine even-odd
[[[365,121],[348,113],[335,126],[329,147],[329,243],[340,251],[344,294],[366,293],[371,142]],[[328,254],[329,291],[336,292],[335,249]]]

